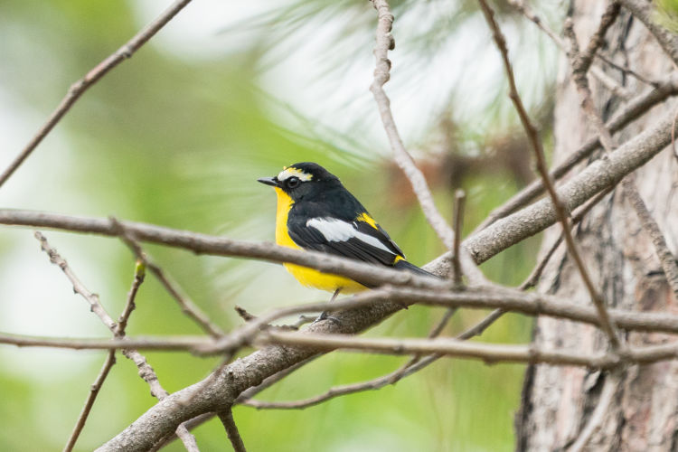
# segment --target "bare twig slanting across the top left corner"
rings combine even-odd
[[[132,39],[127,41],[118,51],[108,55],[108,57],[99,62],[92,70],[90,70],[82,79],[76,81],[71,85],[71,88],[66,93],[66,96],[61,99],[61,102],[57,108],[52,111],[52,115],[47,118],[47,121],[40,127],[38,132],[31,138],[31,141],[28,142],[24,149],[16,155],[14,161],[7,166],[3,174],[0,174],[0,187],[7,182],[7,179],[10,178],[14,171],[24,163],[24,160],[28,158],[29,155],[33,152],[35,147],[37,147],[44,137],[47,136],[52,131],[52,128],[57,125],[57,123],[63,118],[63,116],[71,109],[73,104],[80,99],[80,96],[87,90],[89,87],[94,85],[99,81],[108,71],[112,70],[122,61],[131,58],[134,52],[148,42],[149,39],[155,35],[161,28],[165,26],[169,21],[172,20],[174,15],[178,14],[185,5],[188,5],[191,0],[178,0],[174,2],[169,8],[160,14],[153,22],[147,24],[139,33],[135,34]]]

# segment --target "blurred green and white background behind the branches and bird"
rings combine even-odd
[[[5,167],[70,84],[114,52],[168,2],[0,0],[0,165]],[[454,189],[468,194],[465,230],[532,178],[504,72],[476,3],[394,2],[397,42],[387,91],[401,135],[450,216]],[[557,53],[532,24],[499,7],[516,77],[550,141]],[[541,5],[557,22],[560,2]],[[547,14],[548,13],[548,14]],[[0,205],[108,216],[273,240],[275,196],[256,183],[283,165],[315,161],[342,178],[410,261],[442,251],[390,150],[368,86],[375,12],[365,1],[278,0],[256,5],[196,0],[90,89],[0,189]],[[118,317],[134,259],[117,240],[44,231],[89,290]],[[517,285],[539,239],[484,265]],[[233,306],[328,299],[278,265],[147,251],[225,330]],[[0,233],[0,331],[108,337],[73,295],[33,231]],[[482,312],[455,315],[457,334]],[[423,336],[442,310],[412,307],[370,335]],[[507,315],[481,341],[523,343],[531,322]],[[128,334],[200,334],[151,275]],[[167,391],[218,364],[188,353],[145,353]],[[0,348],[0,450],[63,447],[104,353]],[[263,392],[294,400],[335,384],[391,372],[406,358],[331,353]],[[238,407],[249,450],[512,450],[524,367],[441,360],[381,391],[307,410]],[[133,363],[118,355],[77,450],[99,446],[155,403]],[[218,421],[195,430],[202,450],[230,450]],[[183,450],[180,444],[167,450]]]

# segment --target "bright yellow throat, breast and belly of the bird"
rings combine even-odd
[[[295,248],[301,250],[301,247],[292,240],[287,231],[287,216],[289,210],[292,208],[294,201],[284,191],[278,187],[274,187],[278,194],[278,210],[276,212],[276,243],[278,245],[288,248]],[[362,284],[359,284],[353,279],[340,277],[331,273],[323,273],[313,268],[301,267],[294,264],[283,264],[287,271],[292,274],[297,281],[306,287],[315,287],[321,290],[334,292],[341,288],[342,293],[355,293],[365,290]]]

